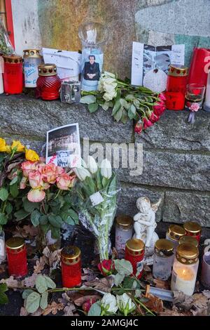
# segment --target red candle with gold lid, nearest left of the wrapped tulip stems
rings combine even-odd
[[[62,282],[65,288],[81,284],[81,253],[77,246],[66,246],[61,253]]]

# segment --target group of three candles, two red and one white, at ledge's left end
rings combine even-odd
[[[23,58],[20,55],[3,55],[0,93],[20,94],[25,86],[36,88],[37,97],[43,100],[57,100],[61,80],[56,65],[43,64],[38,49],[27,49],[23,53]]]

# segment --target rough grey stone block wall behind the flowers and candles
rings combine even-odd
[[[44,102],[23,95],[0,95],[0,135],[40,152],[51,128],[78,122],[80,138],[91,143],[142,143],[144,170],[130,176],[118,170],[121,192],[118,213],[134,215],[137,197],[152,202],[161,197],[158,221],[182,223],[197,220],[210,227],[210,115],[200,111],[195,124],[187,123],[185,111],[166,111],[158,124],[141,136],[132,123],[118,124],[111,110],[90,114],[83,105]]]

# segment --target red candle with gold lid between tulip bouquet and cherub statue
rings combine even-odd
[[[133,274],[136,275],[137,271],[140,273],[138,279],[141,278],[143,272],[143,263],[144,260],[144,242],[141,239],[129,239],[125,245],[125,260],[130,261],[133,266]]]

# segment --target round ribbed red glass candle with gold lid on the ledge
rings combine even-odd
[[[36,97],[43,100],[57,100],[61,80],[57,75],[55,64],[38,65],[38,79],[36,81]]]

